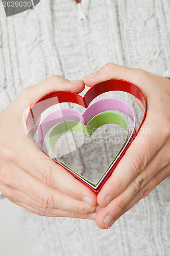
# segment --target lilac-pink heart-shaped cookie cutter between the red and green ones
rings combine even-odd
[[[90,120],[92,120],[95,117],[95,120],[97,121],[97,122],[95,122],[95,127],[99,127],[99,126],[101,126],[100,123],[102,123],[102,125],[103,125],[103,124],[106,124],[106,123],[110,123],[110,121],[113,120],[113,119],[110,120],[110,118],[106,118],[107,114],[105,113],[105,111],[112,111],[112,110],[120,111],[122,113],[125,113],[134,122],[132,132],[131,132],[130,137],[128,139],[128,141],[129,141],[131,139],[131,137],[136,132],[136,120],[135,120],[135,114],[134,114],[132,108],[126,102],[124,102],[124,101],[122,101],[120,99],[105,98],[105,99],[100,99],[98,101],[95,101],[94,103],[89,105],[88,108],[85,109],[83,114],[81,114],[79,111],[74,110],[74,109],[60,109],[60,110],[53,111],[50,114],[48,114],[47,116],[45,116],[43,118],[43,120],[40,122],[40,124],[38,126],[38,130],[37,130],[37,141],[38,141],[38,144],[39,144],[41,150],[46,155],[51,157],[44,150],[44,148],[43,148],[43,141],[45,139],[45,136],[46,136],[47,132],[50,131],[54,125],[60,124],[63,121],[71,121],[71,122],[72,121],[73,122],[76,121],[79,124],[82,123],[84,125],[87,125],[90,122]],[[106,116],[104,116],[106,123],[104,123],[104,120],[101,120],[100,118],[96,119],[96,117],[98,115],[103,114],[103,113],[106,114]],[[120,116],[120,119],[122,119],[122,116]],[[75,125],[77,125],[77,123],[72,123],[72,130],[75,130]],[[121,125],[122,124],[121,120],[120,120],[120,122],[117,121],[117,124]],[[63,127],[63,131],[60,129],[60,131],[58,131],[59,134],[64,132],[65,129],[66,129],[66,126]],[[77,126],[76,129],[78,129],[78,126]],[[58,132],[56,133],[56,135],[58,134]],[[48,142],[49,142],[49,139],[50,139],[50,136],[48,137]],[[125,143],[126,143],[126,141],[125,141]],[[123,146],[124,145],[125,144],[123,144]],[[52,154],[53,154],[54,150],[52,150],[52,147],[54,145],[52,146],[52,145],[49,145],[49,143],[48,143],[48,146],[50,147],[50,150],[52,151]],[[118,151],[118,154],[116,155],[116,157],[118,157],[118,155],[120,154],[122,149],[123,149],[123,147],[120,148],[120,150]],[[108,168],[110,167],[111,164],[113,164],[113,162],[115,160],[115,158],[114,158],[113,161],[111,162],[111,164],[109,165],[109,167],[107,168],[106,172],[104,172],[104,175],[102,175],[102,177],[99,180],[99,182],[94,184],[93,182],[90,182],[88,179],[86,179],[85,177],[81,176],[75,170],[71,169],[69,166],[64,164],[54,154],[53,154],[52,158],[53,158],[54,161],[57,160],[57,162],[59,162],[64,168],[69,170],[69,172],[71,172],[72,174],[74,173],[76,176],[81,177],[81,179],[83,179],[88,185],[90,185],[92,188],[95,188],[95,189],[96,189],[97,186],[98,187],[100,186],[99,182],[100,183],[102,182],[103,176],[105,175],[105,173],[107,172]]]

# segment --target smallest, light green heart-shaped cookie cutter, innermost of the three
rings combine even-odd
[[[60,123],[58,123],[53,130],[50,133],[50,136],[48,137],[48,145],[49,148],[52,152],[52,154],[54,155],[54,157],[64,166],[66,166],[67,168],[69,168],[70,170],[72,170],[72,172],[76,173],[77,175],[79,175],[80,177],[82,177],[83,179],[85,179],[86,181],[88,181],[89,183],[91,183],[92,185],[96,186],[99,181],[102,179],[102,177],[105,175],[105,173],[107,172],[108,168],[105,170],[104,174],[101,176],[101,178],[98,180],[97,183],[93,183],[90,180],[88,180],[87,178],[83,177],[82,175],[80,175],[79,173],[77,173],[75,170],[71,169],[68,165],[66,165],[64,162],[62,162],[55,154],[55,145],[58,141],[58,139],[68,133],[68,132],[81,132],[86,134],[87,136],[91,136],[92,133],[98,129],[100,126],[104,125],[104,124],[118,124],[120,126],[122,126],[126,132],[127,132],[127,136],[126,139],[123,143],[123,145],[120,147],[120,150],[118,151],[118,153],[116,154],[116,156],[114,157],[114,159],[112,160],[112,162],[110,163],[110,165],[108,166],[108,168],[111,166],[111,164],[113,163],[113,161],[116,159],[116,157],[118,156],[118,154],[120,153],[120,151],[122,151],[127,139],[128,139],[128,133],[129,133],[129,129],[128,129],[128,124],[125,121],[125,119],[120,116],[117,113],[114,112],[104,112],[104,113],[100,113],[96,116],[94,116],[88,123],[87,125],[84,125],[81,122],[78,121],[73,121],[73,120],[66,120],[66,121],[62,121]]]

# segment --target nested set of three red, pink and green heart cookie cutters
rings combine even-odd
[[[127,92],[140,100],[140,102],[144,106],[144,116],[137,131],[134,112],[126,102],[115,98],[105,98],[95,101],[94,103],[89,105],[94,98],[110,91]],[[41,114],[46,109],[62,102],[77,103],[83,106],[85,108],[85,111],[83,114],[81,114],[80,112],[73,109],[59,109],[48,114],[40,122]],[[131,134],[128,134],[129,129],[125,119],[117,113],[108,111],[120,111],[127,114],[133,121],[133,129]],[[31,135],[31,137],[33,137],[35,132],[37,131],[39,146],[46,155],[48,154],[43,148],[43,142],[46,134],[48,133],[48,131],[51,130],[50,135],[48,136],[48,146],[53,155],[53,160],[57,164],[63,166],[70,174],[74,175],[77,179],[82,181],[96,194],[98,194],[106,180],[112,174],[120,159],[127,151],[131,142],[136,137],[144,121],[146,111],[147,104],[144,95],[140,91],[140,89],[135,86],[135,84],[122,79],[112,79],[95,84],[95,86],[91,87],[88,90],[84,97],[73,92],[65,91],[58,91],[45,95],[44,97],[39,99],[30,110],[27,117],[27,129],[28,134]],[[122,147],[119,149],[117,155],[112,160],[111,164],[105,170],[104,174],[101,176],[98,182],[93,183],[82,175],[78,174],[75,170],[67,166],[55,155],[55,145],[62,135],[68,132],[77,131],[82,132],[90,137],[92,133],[100,126],[111,123],[120,125],[125,129],[126,139],[123,142]]]

